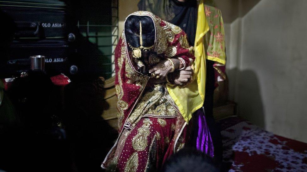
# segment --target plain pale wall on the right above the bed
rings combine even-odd
[[[229,99],[240,116],[307,142],[307,1],[238,3],[243,15],[225,24]]]

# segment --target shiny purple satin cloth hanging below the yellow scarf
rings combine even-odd
[[[214,147],[210,131],[205,119],[204,109],[200,108],[193,114],[194,125],[194,137],[193,147],[196,146],[197,150],[204,152],[205,154],[214,156]]]

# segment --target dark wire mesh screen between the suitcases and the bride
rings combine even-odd
[[[97,64],[102,66],[97,68],[97,72],[108,79],[115,73],[114,50],[119,35],[118,0],[92,1],[82,10],[83,16],[79,17],[77,27],[82,36],[97,49],[96,53],[88,54],[87,58],[98,59]]]

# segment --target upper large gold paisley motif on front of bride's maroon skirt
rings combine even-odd
[[[142,127],[137,129],[137,135],[132,138],[132,147],[134,150],[143,151],[147,146],[147,137],[150,134],[150,124],[152,122],[146,118],[143,121]]]

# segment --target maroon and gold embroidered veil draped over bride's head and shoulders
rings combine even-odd
[[[186,64],[190,63],[189,58],[194,60],[193,47],[189,46],[186,34],[178,26],[168,23],[147,11],[138,11],[130,15],[149,16],[153,19],[156,31],[154,52],[165,54],[169,58],[181,57],[185,60]],[[124,125],[129,125],[125,124],[125,121],[137,104],[140,96],[142,96],[144,87],[149,80],[149,76],[143,75],[137,69],[138,66],[133,63],[132,56],[128,53],[124,29],[115,49],[115,91],[118,98],[119,131],[122,130]],[[167,86],[167,89],[169,92],[173,90],[170,86]],[[172,98],[174,97],[172,96]],[[178,106],[177,102],[176,105]]]

